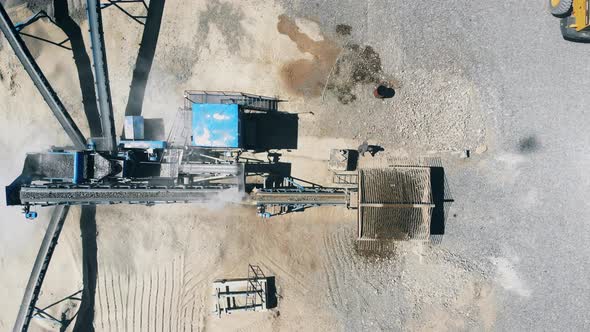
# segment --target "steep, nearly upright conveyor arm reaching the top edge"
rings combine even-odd
[[[88,11],[88,26],[90,29],[90,43],[92,45],[92,60],[94,62],[96,97],[98,99],[98,111],[100,112],[100,123],[102,126],[102,141],[99,142],[97,149],[101,151],[115,152],[117,147],[115,120],[109,86],[109,73],[107,68],[107,55],[104,46],[100,1],[87,0],[86,5],[86,10]]]

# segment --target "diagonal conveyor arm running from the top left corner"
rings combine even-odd
[[[66,134],[70,137],[74,146],[78,149],[85,149],[86,148],[86,139],[84,135],[80,132],[80,129],[66,110],[65,106],[62,104],[61,100],[43,75],[43,72],[33,59],[33,56],[29,52],[27,46],[20,38],[18,32],[14,28],[14,24],[10,20],[10,17],[4,10],[4,7],[0,3],[0,30],[6,36],[8,43],[14,50],[17,58],[20,60],[21,64],[25,68],[25,71],[31,77],[31,80],[39,90],[39,93],[45,99],[45,102],[53,112],[53,115],[62,126]]]

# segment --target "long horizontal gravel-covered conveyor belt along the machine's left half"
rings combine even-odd
[[[22,204],[28,205],[207,202],[216,199],[224,190],[237,190],[237,187],[188,189],[23,187],[20,199]]]

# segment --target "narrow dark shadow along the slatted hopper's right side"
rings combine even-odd
[[[434,203],[430,222],[430,239],[433,243],[440,243],[445,234],[448,211],[453,202],[443,167],[430,168],[430,185]]]

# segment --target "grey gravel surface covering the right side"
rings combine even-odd
[[[400,98],[392,103],[407,107],[406,98],[418,98],[417,112],[455,108],[442,126],[435,114],[416,116],[433,124],[424,120],[426,130],[416,129],[421,133],[414,140],[384,134],[404,126],[389,122],[386,113],[364,126],[338,122],[347,132],[372,134],[376,141],[395,138],[419,151],[487,145],[468,159],[443,158],[455,202],[441,247],[491,266],[494,328],[588,330],[590,95],[584,87],[590,83],[590,46],[562,40],[544,0],[283,3],[290,15],[318,19],[322,27],[352,26],[351,38],[372,46],[384,73],[400,78]],[[444,77],[448,84],[429,85]],[[457,104],[457,83],[476,91],[469,103]],[[463,129],[476,134],[461,128],[449,134],[447,115],[475,126]],[[337,133],[336,126],[319,122],[316,130]]]

